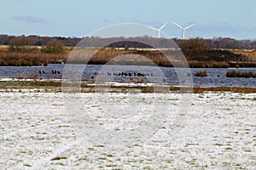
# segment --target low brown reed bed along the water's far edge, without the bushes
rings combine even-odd
[[[117,49],[117,48],[73,48],[66,49],[64,54],[47,54],[41,49],[32,52],[0,51],[0,65],[27,66],[47,65],[49,63],[61,63],[67,61],[73,64],[90,65],[158,65],[164,67],[187,67],[190,68],[227,68],[227,67],[256,67],[256,62],[231,62],[231,61],[201,61],[189,60],[188,63],[179,61],[175,57],[177,52],[170,51],[168,59],[159,51]],[[72,52],[70,54],[70,52]],[[69,55],[70,54],[70,55]],[[119,58],[119,57],[122,58]],[[119,59],[117,59],[119,58]],[[171,59],[171,61],[169,60]]]

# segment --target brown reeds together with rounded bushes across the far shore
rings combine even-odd
[[[100,40],[99,40],[100,41]],[[58,40],[51,40],[45,46],[34,46],[35,42],[27,37],[16,37],[9,46],[0,47],[0,65],[48,65],[66,61],[72,48],[63,47]],[[114,44],[116,47],[130,47],[122,42]],[[178,58],[180,50],[166,50],[165,56],[157,50],[137,50],[134,48],[75,48],[72,59],[68,62],[76,64],[88,63],[103,65],[159,65],[165,67],[184,67],[183,61]],[[183,54],[189,61],[191,68],[227,68],[227,67],[256,67],[256,52],[248,50],[220,50],[208,48],[206,42],[200,38],[182,41],[179,44]],[[132,46],[133,47],[133,46]],[[92,57],[91,57],[92,56]],[[90,58],[91,57],[91,58]],[[120,59],[122,57],[122,59]],[[168,57],[168,59],[166,59]],[[172,62],[170,61],[172,60]]]

